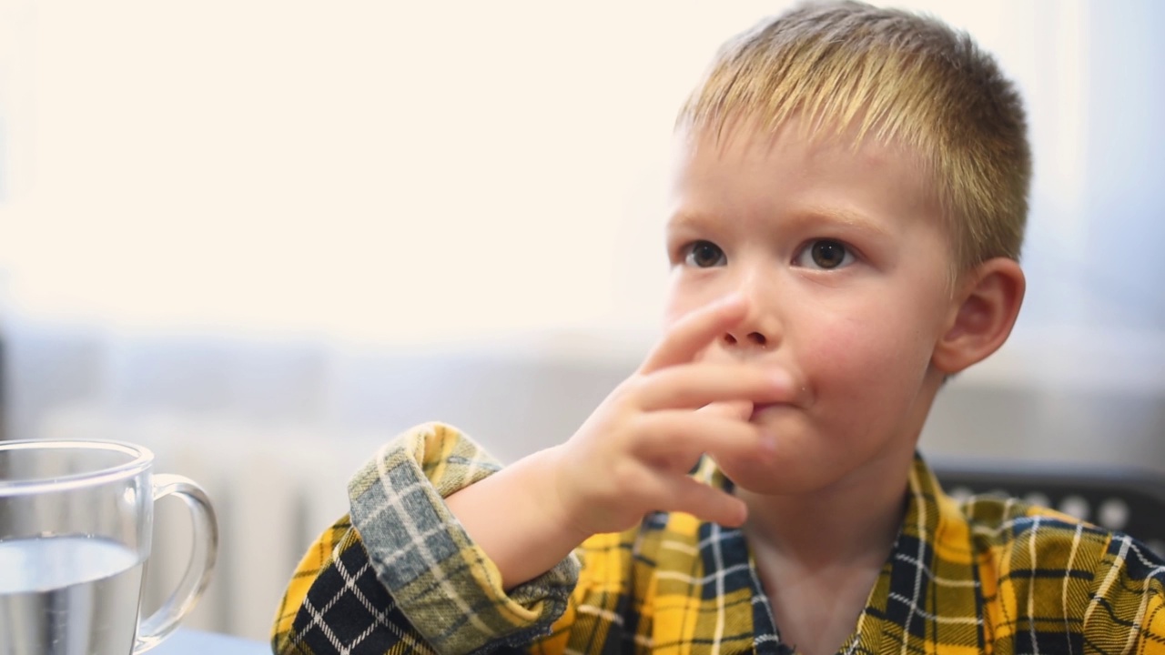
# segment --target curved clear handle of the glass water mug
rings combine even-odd
[[[195,608],[198,598],[206,591],[218,556],[218,520],[210,498],[197,483],[183,476],[169,473],[154,476],[154,501],[174,494],[190,508],[193,519],[195,544],[190,563],[182,582],[148,619],[137,626],[134,653],[144,653],[170,635],[188,612]]]

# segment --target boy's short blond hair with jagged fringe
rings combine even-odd
[[[1031,182],[1023,101],[966,33],[861,2],[802,5],[725,43],[677,128],[720,134],[746,118],[776,129],[793,115],[814,134],[855,129],[859,142],[919,153],[960,270],[1019,259]]]

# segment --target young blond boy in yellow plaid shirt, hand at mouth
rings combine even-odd
[[[934,20],[810,5],[683,108],[668,331],[565,443],[387,444],[304,557],[277,653],[1162,653],[1165,564],[916,453],[1010,333],[1030,155]],[[694,469],[694,472],[693,472]]]

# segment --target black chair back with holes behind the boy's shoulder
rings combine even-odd
[[[1165,557],[1165,472],[956,459],[930,464],[942,490],[956,499],[1018,498],[1124,531]]]

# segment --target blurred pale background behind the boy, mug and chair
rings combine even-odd
[[[786,5],[0,0],[3,438],[202,481],[190,624],[264,638],[377,444],[442,420],[510,462],[638,364],[675,113]],[[888,5],[998,56],[1036,155],[1023,315],[922,450],[1165,472],[1165,3]],[[163,503],[150,603],[186,529]]]

